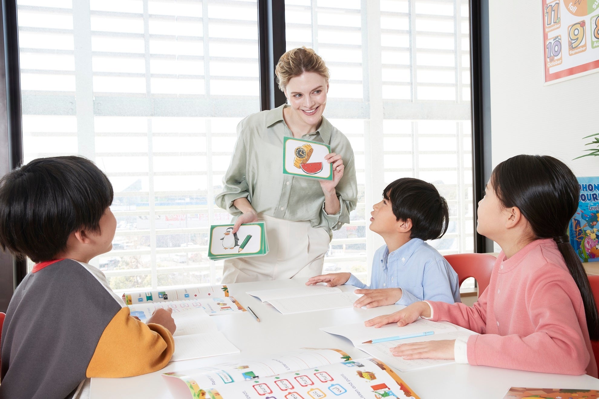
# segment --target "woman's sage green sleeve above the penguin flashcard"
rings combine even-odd
[[[231,157],[231,164],[223,177],[223,191],[214,198],[214,203],[219,208],[225,209],[234,216],[241,214],[241,211],[233,205],[236,199],[247,198],[252,202],[246,179],[247,148],[243,135],[244,121],[240,121],[237,125],[237,142]]]

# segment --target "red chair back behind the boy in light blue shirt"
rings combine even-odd
[[[462,285],[465,279],[474,277],[479,286],[480,297],[491,281],[491,272],[497,258],[489,254],[453,254],[445,255],[444,258],[458,273],[459,285]]]

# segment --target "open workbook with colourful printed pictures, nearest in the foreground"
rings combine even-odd
[[[176,398],[419,399],[386,364],[374,358],[352,360],[338,349],[297,349],[162,376]]]

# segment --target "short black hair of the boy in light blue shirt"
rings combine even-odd
[[[443,237],[449,224],[447,201],[437,188],[415,178],[397,179],[383,191],[397,220],[412,220],[411,238],[435,240]]]

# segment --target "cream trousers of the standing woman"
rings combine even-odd
[[[222,284],[278,279],[305,279],[322,274],[330,237],[309,221],[293,222],[258,214],[264,220],[268,254],[226,259]]]

